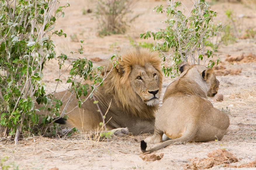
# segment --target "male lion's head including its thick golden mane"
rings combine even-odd
[[[116,103],[133,115],[154,118],[163,78],[159,53],[130,47],[121,57],[104,82],[106,91],[114,94]]]

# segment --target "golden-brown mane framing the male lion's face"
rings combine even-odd
[[[121,67],[123,74],[120,74],[120,70],[116,68],[112,69],[112,63],[109,61],[100,64],[107,69],[106,74],[109,73],[103,82],[103,89],[106,93],[113,94],[118,107],[126,110],[128,114],[144,119],[154,119],[158,105],[147,106],[147,104],[140,99],[134,92],[133,87],[131,87],[129,75],[133,66],[140,65],[144,67],[146,63],[150,63],[157,70],[159,77],[158,85],[161,92],[163,75],[161,72],[159,53],[146,48],[130,47],[121,52],[121,57],[122,60],[119,61],[119,67]]]

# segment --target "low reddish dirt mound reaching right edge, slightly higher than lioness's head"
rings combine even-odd
[[[252,53],[245,53],[245,54],[232,54],[232,55],[226,55],[225,61],[228,62],[255,62],[256,55]]]

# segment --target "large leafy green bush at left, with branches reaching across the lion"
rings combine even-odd
[[[64,17],[63,11],[69,3],[58,7],[58,0],[8,2],[0,1],[0,132],[4,131],[4,136],[7,133],[10,136],[16,133],[16,144],[20,133],[23,137],[31,133],[41,135],[47,132],[48,127],[51,127],[50,132],[57,136],[58,126],[54,123],[53,116],[63,117],[67,113],[65,109],[60,112],[61,100],[53,100],[55,92],[45,93],[42,71],[46,60],[56,56],[55,46],[50,40],[51,35],[66,37],[62,30],[51,30],[56,20]],[[81,43],[83,44],[82,40]],[[76,53],[83,53],[82,45]],[[61,69],[67,56],[61,54],[57,59]],[[81,95],[92,97],[93,92],[97,91],[97,86],[102,85],[101,69],[93,67],[87,58],[73,60],[67,80],[67,83],[71,84],[71,94],[76,94],[78,99]],[[62,82],[62,74],[55,80],[56,89]],[[90,80],[91,83],[81,84],[81,80]],[[78,106],[84,101],[86,99],[80,100]],[[41,104],[42,107],[35,108],[35,103]],[[68,104],[69,102],[66,106]],[[48,114],[36,114],[36,111],[41,109],[46,109]],[[41,124],[40,116],[43,117]]]

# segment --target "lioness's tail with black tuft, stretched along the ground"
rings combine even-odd
[[[170,144],[173,144],[173,143],[176,143],[176,142],[183,142],[183,143],[186,143],[186,142],[189,142],[191,141],[195,135],[196,135],[196,132],[197,130],[187,130],[183,135],[182,137],[180,138],[177,138],[177,139],[170,139],[170,140],[167,140],[163,143],[161,143],[160,145],[154,147],[154,148],[150,148],[149,150],[146,150],[147,148],[147,143],[144,141],[144,140],[141,140],[140,141],[140,149],[143,153],[146,153],[146,152],[154,152],[154,151],[157,151],[161,148],[165,148],[167,146],[169,146]]]

